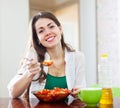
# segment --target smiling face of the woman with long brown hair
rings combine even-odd
[[[53,48],[60,44],[62,30],[61,27],[58,27],[53,20],[40,18],[35,23],[35,29],[40,44],[46,48]]]

